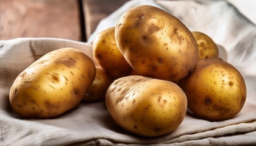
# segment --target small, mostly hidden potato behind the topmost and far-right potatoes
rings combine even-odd
[[[199,50],[199,60],[207,58],[219,58],[219,50],[215,42],[202,32],[192,32],[196,39],[197,47]]]

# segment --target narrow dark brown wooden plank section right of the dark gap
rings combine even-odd
[[[99,21],[115,12],[128,0],[83,0],[83,10],[85,19],[85,34],[87,38],[94,32]]]

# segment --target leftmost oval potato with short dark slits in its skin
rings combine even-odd
[[[53,50],[18,75],[10,104],[24,118],[55,117],[74,108],[93,83],[95,64],[74,48]]]

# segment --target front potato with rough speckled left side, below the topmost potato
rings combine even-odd
[[[160,136],[176,130],[187,112],[187,98],[179,86],[140,75],[118,78],[105,98],[113,120],[140,136]]]

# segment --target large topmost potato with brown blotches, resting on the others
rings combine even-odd
[[[150,5],[125,12],[115,26],[118,49],[138,74],[163,80],[185,77],[198,61],[194,36],[175,16]]]

